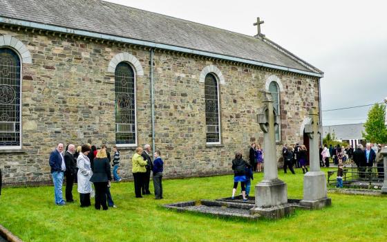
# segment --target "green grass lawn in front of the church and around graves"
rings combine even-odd
[[[302,198],[303,174],[283,174],[290,198]],[[255,185],[263,174],[254,174]],[[278,221],[179,213],[164,203],[231,196],[232,176],[164,180],[164,200],[135,199],[133,183],[113,183],[117,208],[54,205],[53,187],[3,189],[0,224],[23,241],[387,241],[387,197],[329,194],[332,207]],[[151,189],[153,191],[153,188]],[[254,194],[254,187],[252,187]],[[94,202],[92,201],[92,204]]]

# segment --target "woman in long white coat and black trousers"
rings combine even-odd
[[[91,171],[91,163],[87,155],[91,151],[90,145],[82,145],[82,151],[77,158],[78,167],[78,192],[81,201],[81,207],[91,206],[90,194],[91,194],[91,181],[90,178],[93,175]]]

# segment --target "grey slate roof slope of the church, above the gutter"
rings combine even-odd
[[[152,41],[322,74],[261,39],[100,0],[0,0],[0,17]]]

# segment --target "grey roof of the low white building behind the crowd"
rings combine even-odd
[[[328,133],[334,132],[338,140],[363,140],[361,131],[365,132],[364,124],[341,124],[332,126],[323,126],[323,137]]]

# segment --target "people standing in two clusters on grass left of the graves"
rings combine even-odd
[[[111,180],[120,182],[117,169],[120,166],[120,151],[113,147],[113,178],[111,176],[111,156],[106,145],[100,149],[90,144],[75,148],[70,144],[64,151],[64,145],[59,143],[57,148],[50,153],[49,164],[53,177],[55,189],[55,204],[65,205],[73,203],[73,184],[77,183],[77,192],[81,207],[91,206],[91,195],[95,195],[95,209],[108,210],[108,207],[116,207],[111,196]],[[155,187],[155,198],[162,198],[162,169],[163,162],[160,158],[160,151],[154,154],[152,162],[150,146],[145,145],[144,149],[138,147],[133,155],[133,178],[135,180],[135,196],[142,197],[142,194],[151,194],[149,191],[149,178],[153,170],[153,184]],[[62,196],[62,185],[66,177],[66,202]],[[92,188],[94,184],[94,190]],[[139,192],[140,191],[140,192]],[[107,204],[106,204],[107,202]]]

